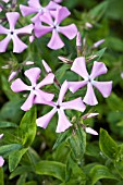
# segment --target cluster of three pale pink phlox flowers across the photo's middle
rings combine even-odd
[[[84,81],[81,82],[64,81],[61,86],[58,100],[54,102],[52,101],[54,95],[42,91],[40,89],[42,86],[52,84],[54,82],[54,75],[51,69],[49,67],[49,65],[45,61],[42,61],[42,64],[48,75],[41,82],[36,83],[41,72],[40,69],[32,67],[30,70],[25,71],[25,76],[30,81],[32,86],[27,86],[20,78],[15,79],[11,85],[12,90],[15,92],[23,91],[23,90],[30,91],[27,100],[21,107],[22,110],[24,111],[29,110],[33,103],[47,104],[52,107],[52,110],[50,112],[37,119],[36,121],[37,126],[46,128],[50,120],[52,119],[52,116],[58,112],[59,120],[58,120],[57,133],[64,132],[70,126],[72,126],[72,123],[70,122],[70,120],[64,113],[65,110],[70,109],[70,110],[84,112],[86,109],[84,102],[89,106],[95,106],[98,103],[93,86],[96,87],[104,98],[107,98],[111,92],[112,82],[94,81],[94,78],[96,78],[97,76],[107,73],[106,65],[102,62],[95,61],[91,70],[91,74],[89,75],[86,70],[85,58],[79,57],[76,58],[75,61],[73,62],[71,71],[74,71],[75,73],[81,75],[84,78]],[[87,85],[87,92],[83,98],[83,100],[82,97],[78,97],[70,101],[63,101],[64,96],[69,89],[72,92],[75,92],[77,89],[84,87],[85,85]],[[96,134],[91,128],[86,127],[86,131],[88,133],[91,132],[93,134]]]

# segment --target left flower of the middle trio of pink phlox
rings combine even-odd
[[[25,71],[24,74],[29,79],[32,84],[30,86],[24,84],[21,78],[16,78],[11,85],[11,89],[14,92],[24,91],[24,90],[30,91],[26,101],[21,107],[21,109],[24,111],[27,111],[33,107],[35,97],[39,97],[40,103],[42,103],[44,101],[51,101],[54,97],[53,94],[46,92],[40,89],[40,87],[52,84],[54,75],[52,73],[49,73],[41,82],[37,84],[37,79],[39,78],[40,73],[41,70],[39,67],[32,67]]]

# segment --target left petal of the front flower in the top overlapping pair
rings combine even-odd
[[[41,25],[40,28],[38,28],[38,27],[36,26],[35,29],[34,29],[34,32],[35,32],[35,36],[36,36],[37,38],[39,38],[39,37],[46,35],[46,34],[52,32],[52,29],[53,29],[52,27],[42,26],[42,25]]]

